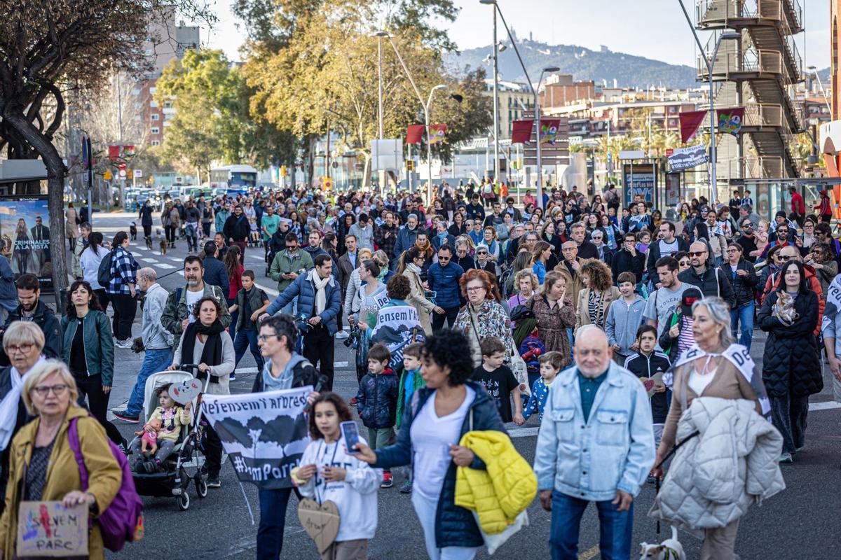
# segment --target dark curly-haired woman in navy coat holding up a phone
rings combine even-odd
[[[412,505],[430,558],[467,560],[482,546],[473,512],[456,505],[455,495],[458,467],[485,466],[459,442],[470,431],[505,433],[495,401],[470,379],[471,336],[447,329],[432,335],[423,349],[426,387],[418,389],[412,406],[406,408],[397,442],[376,451],[364,443],[356,446],[357,458],[374,468],[412,466]]]

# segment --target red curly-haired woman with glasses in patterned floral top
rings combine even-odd
[[[495,279],[485,270],[471,269],[459,280],[462,296],[468,301],[458,311],[453,330],[467,336],[475,367],[482,365],[479,345],[485,337],[496,337],[505,343],[505,363],[514,351],[511,321],[508,311],[500,303],[500,291]]]

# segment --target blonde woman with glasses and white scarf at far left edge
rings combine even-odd
[[[8,482],[12,438],[30,420],[23,400],[24,381],[44,363],[44,332],[34,322],[12,322],[3,334],[3,351],[11,365],[0,369],[0,513]]]

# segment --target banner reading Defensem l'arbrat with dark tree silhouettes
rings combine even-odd
[[[304,406],[313,388],[207,395],[202,409],[241,482],[262,489],[291,488],[289,473],[309,444]]]

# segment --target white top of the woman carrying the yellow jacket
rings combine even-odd
[[[412,491],[422,496],[435,499],[441,495],[444,477],[450,467],[450,446],[458,445],[465,416],[476,392],[465,387],[467,394],[458,409],[447,416],[438,417],[435,413],[435,396],[430,395],[421,411],[412,421],[412,455],[415,463]]]

